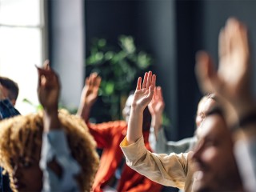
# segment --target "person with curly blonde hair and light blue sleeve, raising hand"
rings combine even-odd
[[[0,122],[0,165],[14,191],[90,191],[98,168],[94,139],[82,119],[58,113],[60,85],[49,64],[38,77],[43,113]]]

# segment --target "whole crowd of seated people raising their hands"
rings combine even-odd
[[[138,78],[124,120],[99,124],[90,122],[98,74],[86,78],[75,115],[58,109],[61,83],[49,61],[36,68],[41,112],[20,114],[18,84],[1,77],[0,191],[256,191],[250,51],[246,26],[236,18],[219,34],[218,70],[210,54],[198,51],[204,96],[194,136],[179,142],[167,141],[162,129],[165,102],[152,71]]]

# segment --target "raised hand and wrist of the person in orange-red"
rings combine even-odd
[[[98,98],[98,88],[101,84],[101,81],[102,78],[99,77],[96,73],[92,73],[88,78],[86,78],[77,113],[85,121],[88,121],[90,108],[94,105],[94,102]]]

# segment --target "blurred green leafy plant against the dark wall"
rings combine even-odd
[[[121,118],[122,99],[134,89],[134,81],[142,75],[153,58],[138,50],[134,38],[121,35],[118,47],[109,45],[104,38],[95,38],[86,58],[86,70],[97,72],[102,77],[99,95],[110,106],[112,120]],[[121,106],[120,106],[121,103]]]

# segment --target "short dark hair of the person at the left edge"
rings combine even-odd
[[[8,90],[7,97],[10,100],[17,100],[18,98],[18,84],[11,80],[10,78],[0,77],[0,83],[3,87],[5,87]]]

